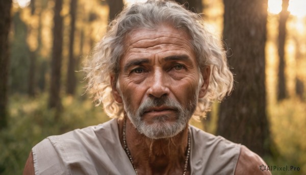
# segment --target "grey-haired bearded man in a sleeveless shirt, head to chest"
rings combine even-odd
[[[125,7],[84,68],[88,92],[117,119],[48,137],[25,174],[269,174],[246,147],[188,124],[233,87],[200,21],[171,1]]]

